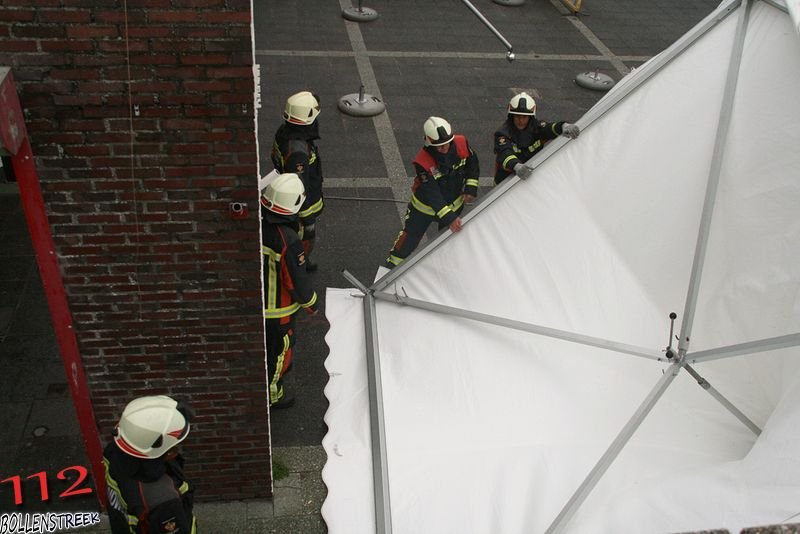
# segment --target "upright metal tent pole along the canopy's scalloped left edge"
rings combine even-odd
[[[372,441],[372,486],[375,497],[375,532],[392,533],[392,508],[389,496],[389,463],[386,457],[386,424],[383,414],[383,386],[378,348],[378,316],[372,291],[348,271],[347,280],[364,293],[364,335],[367,346],[367,387],[369,428]]]

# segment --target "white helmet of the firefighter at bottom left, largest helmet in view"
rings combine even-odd
[[[166,395],[139,397],[119,419],[114,442],[136,458],[159,458],[189,435],[189,421]]]

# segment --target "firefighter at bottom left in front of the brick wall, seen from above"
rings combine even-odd
[[[103,451],[113,534],[191,534],[194,490],[177,447],[189,435],[191,409],[164,395],[128,403]]]

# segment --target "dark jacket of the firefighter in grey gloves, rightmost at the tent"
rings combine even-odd
[[[509,174],[513,174],[514,165],[525,163],[539,152],[547,141],[561,135],[564,122],[544,122],[531,117],[524,130],[514,126],[509,118],[494,133],[495,183],[502,182]]]

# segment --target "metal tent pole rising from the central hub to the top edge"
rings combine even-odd
[[[708,247],[708,235],[711,228],[711,219],[714,214],[714,204],[719,188],[720,175],[722,173],[722,163],[725,155],[725,143],[728,139],[728,130],[733,116],[733,101],[736,96],[736,85],[739,80],[739,67],[742,61],[744,50],[744,37],[747,33],[747,23],[750,20],[750,10],[753,4],[750,0],[743,0],[742,12],[739,16],[736,27],[736,35],[733,41],[730,62],[728,65],[728,75],[725,80],[725,91],[722,95],[720,105],[720,118],[717,126],[717,135],[714,140],[714,151],[711,156],[711,168],[708,172],[708,183],[706,185],[706,196],[703,203],[703,213],[700,218],[700,227],[697,232],[697,243],[695,244],[694,261],[692,262],[692,274],[689,278],[689,289],[686,295],[686,305],[683,312],[683,322],[681,323],[681,334],[678,340],[678,353],[685,355],[689,348],[689,341],[692,337],[692,326],[694,314],[697,309],[697,295],[700,291],[700,279],[705,263],[706,249]]]

